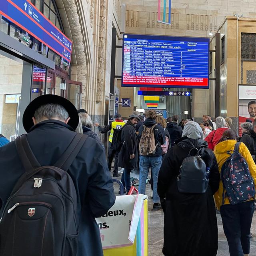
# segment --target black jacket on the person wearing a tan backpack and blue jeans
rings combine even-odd
[[[142,132],[144,130],[144,125],[146,127],[152,127],[155,124],[156,124],[156,120],[147,118],[145,120],[144,124],[142,126],[140,126],[138,139],[140,140],[140,138],[141,138]],[[164,132],[164,128],[162,128],[162,126],[160,126],[159,124],[157,124],[154,127],[154,137],[155,137],[155,144],[158,144],[158,145],[156,146],[155,154],[151,155],[151,156],[162,156],[163,150],[162,150],[161,145],[163,145],[165,142],[165,132]]]

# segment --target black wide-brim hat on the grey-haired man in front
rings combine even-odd
[[[79,116],[76,107],[72,104],[72,102],[58,95],[45,94],[32,100],[32,102],[30,102],[30,104],[28,104],[28,106],[26,107],[22,118],[23,126],[26,132],[28,132],[30,128],[34,126],[32,117],[35,116],[35,111],[40,106],[49,103],[59,104],[63,106],[63,108],[67,110],[68,116],[70,117],[68,125],[76,130],[79,123]]]

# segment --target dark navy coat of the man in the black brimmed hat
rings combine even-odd
[[[57,120],[43,121],[32,128],[27,138],[42,166],[53,165],[75,136],[70,126]],[[10,196],[24,168],[15,142],[0,148],[0,202],[2,207]],[[104,150],[87,138],[70,166],[70,174],[78,196],[79,237],[77,256],[103,256],[100,232],[95,217],[105,214],[115,202],[113,182]]]

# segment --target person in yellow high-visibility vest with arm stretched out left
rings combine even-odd
[[[109,169],[109,171],[111,171],[112,161],[113,161],[113,158],[115,157],[113,178],[120,176],[120,174],[118,173],[118,154],[119,154],[119,152],[115,151],[114,148],[112,147],[112,139],[113,139],[114,129],[121,129],[125,125],[124,121],[122,120],[122,116],[120,114],[117,114],[114,117],[115,117],[115,121],[110,122],[110,124],[108,124],[104,127],[100,126],[100,124],[98,124],[98,123],[95,123],[95,126],[98,127],[98,129],[101,133],[106,133],[106,132],[110,131],[109,141],[108,141],[108,169]]]

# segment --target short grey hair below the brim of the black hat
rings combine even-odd
[[[42,122],[46,119],[58,118],[59,120],[65,121],[68,119],[68,111],[56,103],[48,103],[40,106],[34,114],[36,122]]]

